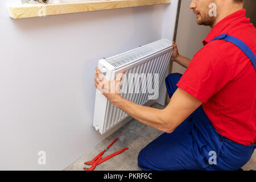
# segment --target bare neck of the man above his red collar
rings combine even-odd
[[[236,11],[242,10],[243,4],[239,3],[236,5],[227,5],[227,6],[218,7],[218,9],[219,9],[219,11],[217,11],[217,13],[219,15],[217,16],[215,22],[210,26],[211,28],[213,28],[218,22],[220,22],[226,16],[231,15],[231,14],[235,13]]]

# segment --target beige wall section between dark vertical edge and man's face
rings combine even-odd
[[[191,1],[182,0],[177,27],[176,44],[180,55],[192,59],[197,51],[203,47],[202,41],[210,32],[209,26],[199,26],[196,23],[196,15],[189,9]],[[179,64],[172,65],[172,73],[184,73],[185,68]]]

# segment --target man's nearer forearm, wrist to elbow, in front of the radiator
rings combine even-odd
[[[167,133],[170,131],[170,122],[167,123],[162,119],[163,110],[138,105],[134,102],[126,100],[125,98],[122,98],[121,96],[118,96],[112,100],[112,104],[145,125],[154,127],[155,129]]]

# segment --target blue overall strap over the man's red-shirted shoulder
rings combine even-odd
[[[253,63],[253,67],[256,71],[256,56],[254,55],[253,51],[251,51],[251,49],[244,43],[242,42],[242,40],[235,38],[234,36],[230,36],[228,35],[228,33],[226,34],[222,34],[217,36],[216,38],[212,39],[212,41],[214,40],[225,40],[226,42],[231,42],[233,44],[235,44],[238,48],[240,48],[247,57],[249,57],[249,59],[251,60],[251,63]],[[210,42],[212,42],[210,41]]]

